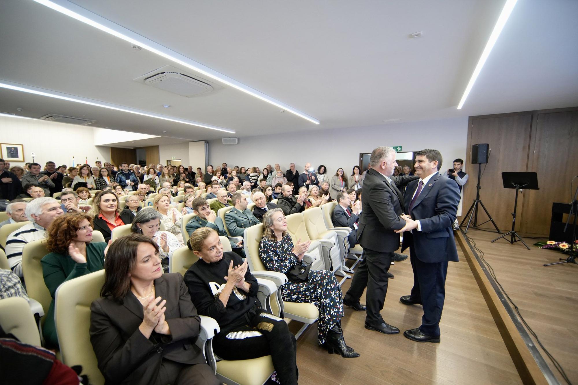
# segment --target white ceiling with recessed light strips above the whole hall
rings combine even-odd
[[[0,2],[0,79],[236,134],[2,89],[0,112],[23,108],[18,114],[208,140],[578,105],[574,0],[518,1],[461,110],[455,107],[504,0],[73,2],[321,123],[226,85],[184,98],[134,82],[175,64],[31,0]],[[423,38],[410,39],[417,31]]]

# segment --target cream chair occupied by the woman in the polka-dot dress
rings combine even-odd
[[[272,280],[277,286],[281,286],[287,282],[287,276],[279,272],[268,271],[265,268],[265,265],[259,257],[261,238],[263,238],[262,223],[246,228],[244,231],[243,245],[249,269],[255,277]],[[317,307],[313,305],[313,303],[283,301],[280,291],[277,291],[277,296],[275,301],[271,302],[271,306],[273,310],[279,310],[279,312],[283,314],[281,317],[305,324],[301,330],[295,334],[295,338],[299,338],[307,326],[313,324],[319,318],[319,310],[317,310]]]

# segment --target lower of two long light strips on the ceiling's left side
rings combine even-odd
[[[146,112],[146,111],[137,110],[134,108],[119,106],[119,105],[112,104],[112,103],[106,103],[106,102],[101,102],[101,101],[97,101],[97,100],[81,98],[81,97],[77,97],[75,95],[62,94],[61,92],[44,90],[43,88],[26,86],[25,84],[7,82],[6,80],[0,80],[0,88],[6,88],[7,90],[27,92],[28,94],[35,94],[35,95],[45,96],[45,97],[49,97],[49,98],[61,99],[61,100],[69,101],[69,102],[83,103],[83,104],[87,104],[90,106],[108,108],[111,110],[128,112],[131,114],[137,114],[137,115],[142,115],[142,116],[153,117],[156,119],[174,121],[176,123],[195,125],[197,127],[215,129],[217,131],[223,131],[223,132],[228,132],[229,134],[235,134],[235,131],[232,129],[217,127],[216,125],[198,123],[198,122],[192,121],[192,120],[177,119],[177,118],[174,118],[171,116],[155,114],[153,112]]]

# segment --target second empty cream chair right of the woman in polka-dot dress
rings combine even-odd
[[[347,278],[351,278],[343,270],[343,261],[347,255],[347,247],[344,242],[349,233],[343,230],[328,230],[323,221],[323,212],[318,207],[305,210],[303,220],[305,220],[305,229],[309,238],[321,242],[323,252],[328,253],[331,258],[332,272],[343,277],[339,282],[343,284]]]

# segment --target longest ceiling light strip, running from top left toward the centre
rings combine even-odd
[[[161,46],[158,43],[153,42],[153,40],[147,39],[144,36],[139,34],[135,34],[135,32],[130,31],[127,28],[122,27],[116,23],[113,23],[106,18],[98,16],[98,14],[90,12],[87,9],[82,8],[74,3],[71,3],[67,0],[34,0],[37,3],[45,5],[55,11],[58,11],[66,16],[70,16],[75,18],[76,20],[82,21],[88,25],[91,25],[94,28],[98,28],[107,34],[116,36],[117,38],[123,39],[131,44],[137,45],[147,51],[151,51],[157,55],[160,55],[168,60],[176,62],[188,69],[192,69],[192,71],[196,71],[201,73],[204,76],[210,77],[211,79],[217,80],[217,82],[221,82],[227,84],[227,86],[231,86],[236,88],[239,91],[245,92],[255,98],[261,99],[264,102],[271,103],[274,106],[277,106],[281,109],[284,109],[288,112],[294,113],[295,115],[302,117],[305,120],[309,120],[312,123],[319,124],[319,121],[312,116],[307,115],[297,109],[292,108],[291,106],[286,105],[283,102],[280,102],[276,99],[269,97],[268,95],[263,94],[260,91],[254,90],[253,88],[246,86],[243,83],[237,82],[235,79],[223,75],[220,72],[214,71],[210,69],[208,66],[202,65],[199,62],[196,62],[180,53],[168,49],[164,46]]]

